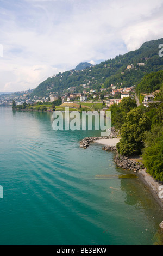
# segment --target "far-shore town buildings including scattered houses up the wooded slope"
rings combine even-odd
[[[105,64],[106,65],[106,64]],[[144,66],[145,63],[137,63],[138,66]],[[92,66],[91,66],[92,67]],[[136,69],[133,64],[128,65],[126,70],[131,71],[132,69]],[[73,70],[72,74],[73,74]],[[83,71],[83,70],[82,70]],[[77,71],[79,72],[79,71]],[[124,72],[122,72],[123,74]],[[52,77],[55,77],[53,75]],[[61,76],[62,77],[62,76]],[[93,80],[94,77],[92,77]],[[121,100],[124,97],[135,97],[135,87],[130,86],[127,88],[123,87],[123,83],[119,84],[110,84],[108,88],[100,88],[99,90],[93,89],[91,87],[91,82],[87,81],[85,84],[80,84],[79,86],[70,87],[64,89],[62,92],[51,92],[51,89],[47,89],[49,91],[48,95],[46,96],[37,96],[34,95],[34,89],[28,89],[22,92],[15,92],[15,93],[4,93],[0,95],[0,106],[12,106],[13,101],[15,102],[16,106],[23,105],[26,103],[27,105],[38,105],[52,103],[57,100],[60,100],[61,103],[103,103],[103,108],[105,110],[109,109],[111,105],[120,104]],[[101,83],[102,86],[102,83]],[[81,90],[81,92],[79,92]],[[154,99],[153,95],[145,95],[145,99],[142,102],[143,106],[148,106],[148,102],[152,102]]]

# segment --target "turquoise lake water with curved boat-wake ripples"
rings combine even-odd
[[[54,131],[52,113],[0,108],[1,245],[153,245],[162,211],[114,153],[79,141],[98,131]]]

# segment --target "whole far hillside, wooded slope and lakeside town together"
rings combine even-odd
[[[111,105],[118,105],[124,97],[138,97],[140,102],[148,106],[154,100],[155,90],[148,88],[140,92],[137,86],[147,74],[152,74],[163,69],[162,58],[158,55],[158,45],[162,39],[145,42],[139,49],[128,52],[123,56],[106,60],[95,66],[83,68],[84,63],[63,73],[59,72],[43,81],[35,89],[23,92],[0,95],[0,106],[11,106],[15,101],[16,106],[27,105],[52,105],[65,103],[103,103],[107,109]],[[101,108],[100,108],[101,109]]]

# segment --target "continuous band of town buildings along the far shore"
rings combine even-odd
[[[65,92],[52,93],[49,92],[48,97],[40,97],[33,95],[34,89],[28,89],[22,92],[15,92],[10,94],[0,95],[0,106],[12,106],[12,102],[15,101],[16,105],[26,104],[35,105],[38,102],[47,103],[54,102],[59,98],[62,99],[62,103],[72,103],[72,102],[101,102],[104,101],[106,108],[114,104],[119,104],[124,97],[134,97],[135,86],[129,88],[119,88],[111,84],[109,88],[101,88],[100,92],[97,92],[96,89],[90,89],[89,86],[83,84],[83,91],[81,93],[75,93],[76,87],[70,87]]]

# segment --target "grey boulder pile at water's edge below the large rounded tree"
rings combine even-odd
[[[134,160],[130,160],[128,157],[121,156],[119,154],[115,156],[114,161],[118,167],[127,170],[133,170],[135,173],[141,170],[146,170],[145,166],[143,166],[142,163],[135,162]]]

